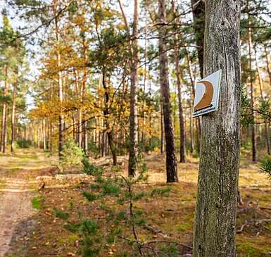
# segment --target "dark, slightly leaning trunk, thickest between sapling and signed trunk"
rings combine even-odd
[[[165,0],[158,0],[159,18],[165,23]],[[170,85],[168,82],[168,56],[166,53],[165,26],[159,29],[159,63],[160,63],[160,90],[162,95],[163,116],[165,126],[165,158],[167,182],[177,182],[177,158],[175,155],[174,129],[171,117]]]

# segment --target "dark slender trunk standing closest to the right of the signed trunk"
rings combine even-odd
[[[248,15],[248,58],[249,58],[249,77],[250,77],[250,86],[251,86],[251,107],[254,106],[254,88],[253,88],[253,72],[252,72],[252,42],[251,42],[251,27],[250,27],[250,17]],[[255,133],[255,117],[254,113],[251,113],[251,144],[252,144],[252,161],[256,162],[257,159],[257,142],[256,142],[256,133]]]

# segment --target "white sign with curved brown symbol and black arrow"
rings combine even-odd
[[[196,83],[193,117],[218,111],[222,70]]]

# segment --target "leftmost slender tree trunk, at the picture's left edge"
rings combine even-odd
[[[5,68],[5,87],[4,87],[4,96],[8,94],[8,66],[6,65]],[[6,121],[8,115],[8,104],[6,99],[4,99],[3,103],[3,111],[2,111],[2,134],[1,134],[1,152],[6,152]]]

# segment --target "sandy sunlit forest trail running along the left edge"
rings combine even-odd
[[[0,156],[0,257],[9,249],[19,222],[34,214],[31,200],[37,188],[35,177],[51,167],[44,154],[21,149]]]

